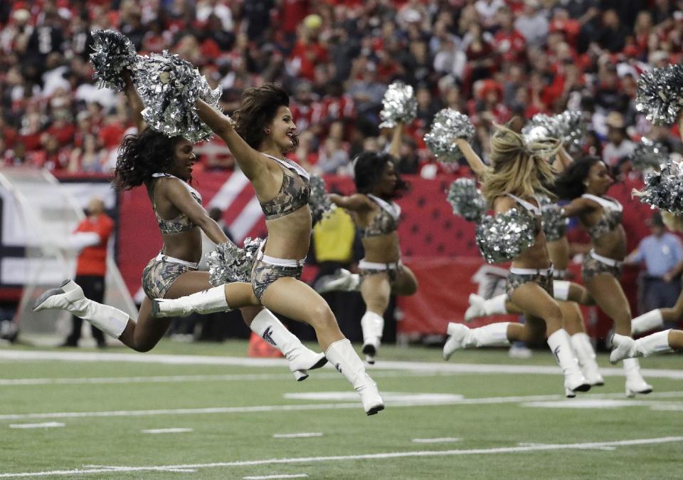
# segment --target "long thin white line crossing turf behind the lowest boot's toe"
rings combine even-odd
[[[657,395],[659,393],[659,395]],[[672,395],[673,394],[673,395]],[[590,398],[621,398],[623,393],[598,393],[586,394],[582,397]],[[648,395],[650,398],[656,397],[683,397],[683,392],[655,392]],[[521,403],[521,402],[541,402],[566,400],[564,395],[528,395],[513,397],[483,397],[483,398],[462,398],[444,399],[433,401],[421,400],[400,400],[396,402],[386,402],[388,407],[439,407],[444,405],[496,405],[502,403]],[[642,406],[647,407],[654,403],[661,405],[662,402],[651,402],[650,400],[635,400]],[[111,410],[108,412],[41,412],[41,413],[12,413],[0,414],[1,420],[21,420],[37,418],[92,418],[92,417],[152,417],[155,415],[178,415],[178,414],[228,414],[228,413],[261,413],[261,412],[291,412],[306,410],[332,410],[346,408],[361,408],[358,402],[344,403],[314,403],[302,405],[252,405],[250,407],[206,407],[206,408],[178,408],[178,409],[153,409],[153,410]]]

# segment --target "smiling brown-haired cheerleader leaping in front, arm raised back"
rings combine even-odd
[[[327,360],[359,393],[366,414],[376,414],[384,403],[375,382],[327,303],[299,279],[311,240],[310,182],[305,169],[285,157],[298,145],[289,105],[285,90],[266,84],[244,91],[234,120],[201,100],[196,112],[226,142],[265,215],[268,239],[253,266],[250,295],[260,305],[311,325]],[[174,315],[188,304],[194,307],[208,301],[208,293],[197,293],[161,299],[157,308],[162,315]]]

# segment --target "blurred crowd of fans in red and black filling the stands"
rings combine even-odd
[[[346,174],[379,150],[383,93],[413,85],[399,168],[432,175],[423,135],[449,107],[475,124],[484,157],[492,122],[582,110],[586,152],[611,167],[640,137],[680,150],[677,132],[635,110],[637,78],[683,54],[674,0],[33,0],[0,3],[0,162],[108,172],[132,128],[122,95],[97,90],[88,53],[97,28],[139,53],[168,49],[221,85],[229,113],[251,85],[292,93],[297,160]],[[196,149],[208,169],[233,167],[220,141]],[[443,168],[439,166],[438,169]],[[452,169],[457,169],[457,165]]]

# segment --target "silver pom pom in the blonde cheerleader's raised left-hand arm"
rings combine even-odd
[[[462,152],[455,145],[455,139],[465,138],[469,142],[474,136],[475,127],[467,115],[444,108],[435,115],[432,129],[425,135],[425,142],[440,162],[457,162],[462,158]]]

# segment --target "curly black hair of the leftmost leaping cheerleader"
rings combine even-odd
[[[126,135],[119,147],[112,184],[118,192],[130,190],[166,172],[173,162],[174,149],[183,137],[166,137],[147,127],[139,135]]]

